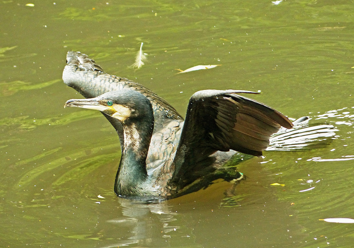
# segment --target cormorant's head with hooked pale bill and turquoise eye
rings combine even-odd
[[[70,99],[65,103],[65,107],[98,110],[118,119],[121,123],[136,118],[145,119],[153,115],[149,99],[135,90],[116,90],[96,98]]]

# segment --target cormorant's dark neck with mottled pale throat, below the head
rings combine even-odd
[[[153,117],[152,117],[153,118]],[[123,124],[124,145],[115,178],[117,195],[144,195],[148,191],[146,158],[153,132],[154,119],[149,123],[130,122]]]

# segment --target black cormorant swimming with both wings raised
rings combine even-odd
[[[168,199],[216,178],[236,179],[241,174],[223,166],[236,151],[260,156],[270,138],[280,150],[296,149],[326,143],[336,131],[332,125],[293,130],[280,112],[239,95],[258,94],[246,90],[198,91],[184,120],[152,91],[103,72],[80,52],[68,52],[63,80],[87,98],[68,100],[65,106],[99,110],[116,129],[122,155],[114,191],[123,197]],[[282,134],[274,136],[279,130]],[[231,173],[217,173],[222,170]]]

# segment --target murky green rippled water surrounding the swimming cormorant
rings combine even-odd
[[[352,247],[353,224],[319,219],[354,218],[353,1],[9,0],[0,13],[0,247]],[[149,62],[135,70],[141,42]],[[261,90],[338,138],[241,163],[232,199],[222,181],[159,204],[119,199],[114,129],[63,108],[81,97],[61,80],[68,50],[180,113],[200,89]],[[200,64],[222,66],[176,75]]]

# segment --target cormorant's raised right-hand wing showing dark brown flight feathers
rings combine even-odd
[[[280,112],[236,93],[258,94],[245,90],[201,90],[190,98],[174,158],[174,180],[204,163],[217,150],[232,149],[260,156],[269,146],[270,136],[281,126],[293,126]]]

